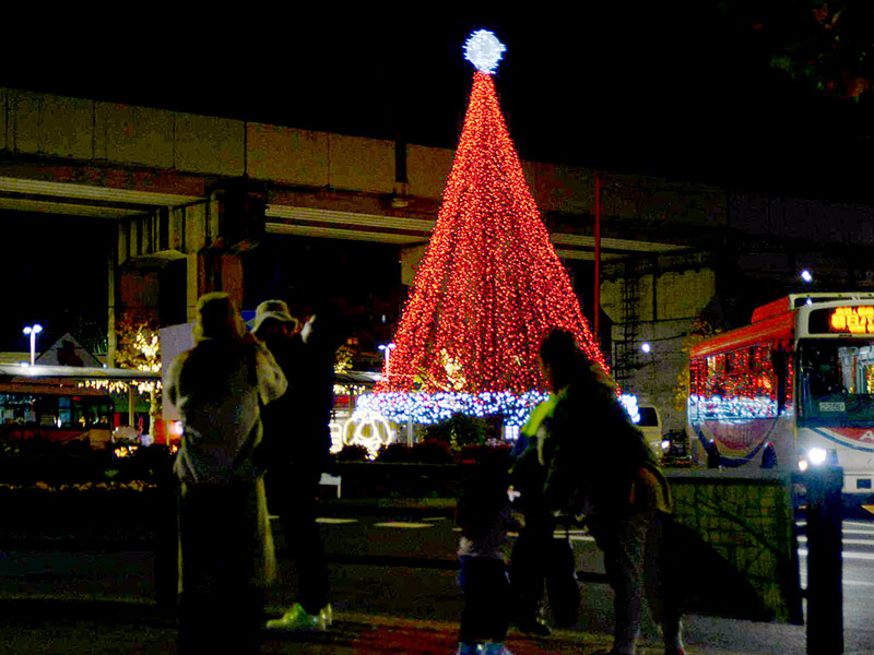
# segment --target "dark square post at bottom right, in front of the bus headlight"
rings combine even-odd
[[[807,487],[807,653],[843,653],[841,492],[843,469],[812,467]]]

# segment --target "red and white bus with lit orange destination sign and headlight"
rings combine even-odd
[[[836,465],[845,499],[871,502],[874,293],[790,295],[697,343],[686,430],[697,465]]]

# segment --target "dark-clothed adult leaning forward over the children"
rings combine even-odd
[[[550,332],[540,354],[556,397],[538,429],[538,453],[547,469],[543,496],[552,510],[584,514],[604,553],[615,593],[610,655],[636,654],[645,591],[662,626],[665,654],[683,655],[676,585],[665,580],[668,483],[615,385],[589,365],[574,335]]]

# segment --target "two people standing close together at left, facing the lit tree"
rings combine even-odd
[[[329,465],[335,317],[300,299],[258,306],[251,332],[229,295],[198,300],[194,347],[170,365],[181,417],[178,478],[179,652],[258,653],[275,579],[268,514],[279,516],[299,600],[268,628],[333,620],[316,495]]]

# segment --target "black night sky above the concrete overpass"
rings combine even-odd
[[[874,34],[869,4],[850,4],[858,31]],[[874,93],[826,97],[769,66],[798,35],[818,34],[814,5],[581,2],[571,13],[531,4],[460,19],[430,5],[435,15],[415,19],[422,8],[13,16],[0,86],[452,148],[472,74],[461,46],[485,27],[508,48],[496,83],[522,158],[870,203]],[[8,237],[10,222],[2,225]],[[61,263],[64,249],[103,257],[99,239],[63,243],[44,248]],[[4,278],[9,262],[0,263]],[[34,294],[56,283],[31,281]]]

